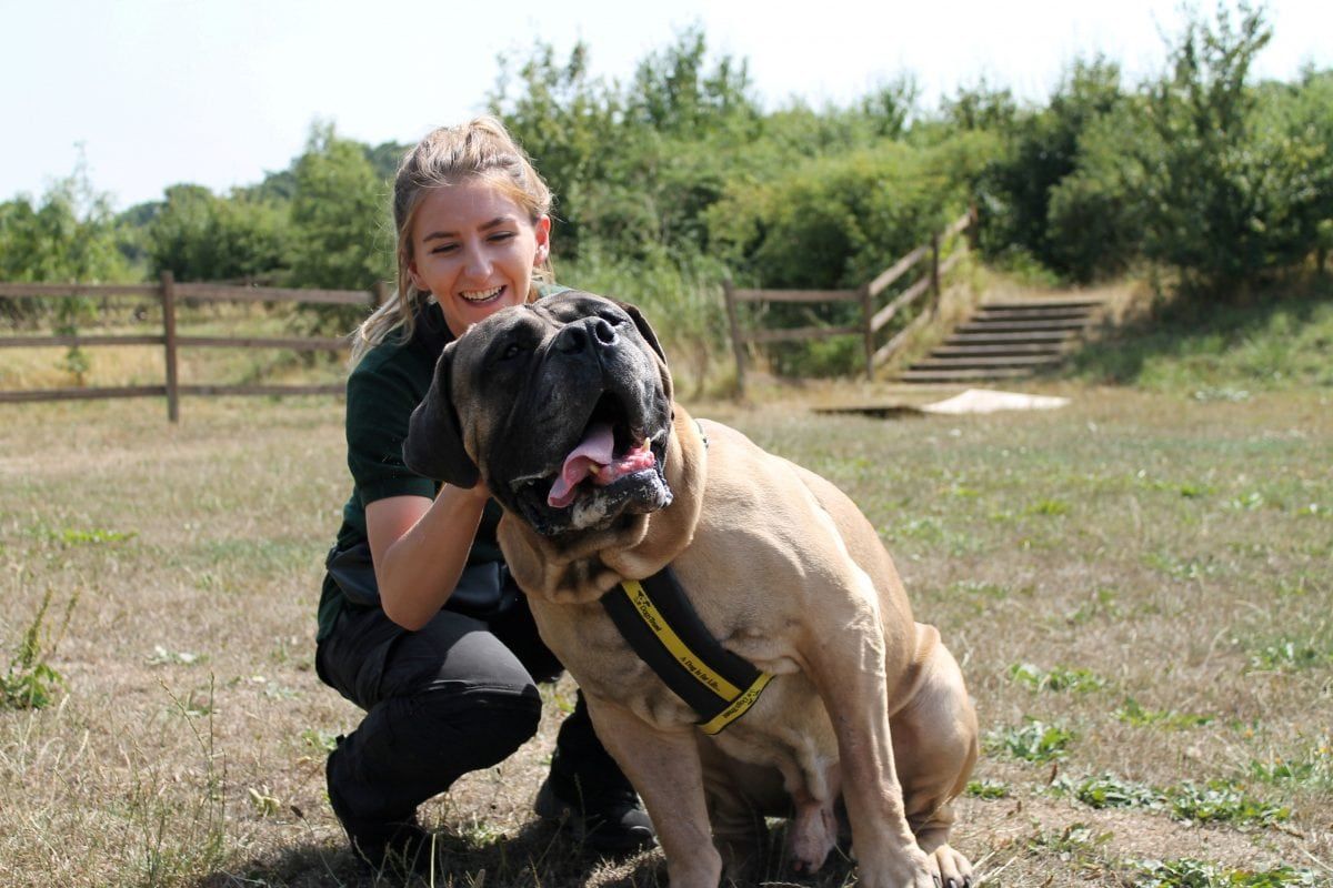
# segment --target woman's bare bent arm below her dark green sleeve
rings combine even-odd
[[[491,494],[444,485],[425,497],[389,497],[365,507],[380,602],[389,619],[416,631],[435,616],[459,584]]]

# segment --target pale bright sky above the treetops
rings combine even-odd
[[[1333,67],[1333,4],[1265,8],[1260,76]],[[593,73],[624,83],[700,27],[769,109],[848,104],[905,73],[934,108],[982,77],[1044,101],[1096,53],[1132,85],[1165,71],[1182,21],[1162,0],[0,0],[0,201],[37,200],[80,162],[116,209],[177,182],[227,193],[285,169],[316,121],[412,142],[483,112],[539,43],[565,60],[581,40]]]

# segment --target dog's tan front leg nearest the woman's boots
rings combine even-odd
[[[617,703],[584,694],[597,736],[653,819],[672,888],[717,888],[722,859],[708,823],[694,730],[661,731]]]

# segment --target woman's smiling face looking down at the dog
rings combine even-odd
[[[432,189],[412,222],[408,272],[435,294],[453,335],[528,301],[532,270],[551,250],[551,217],[536,224],[485,181]]]

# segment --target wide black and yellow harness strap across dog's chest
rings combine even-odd
[[[623,582],[601,603],[639,658],[698,714],[704,734],[745,715],[773,678],[713,638],[669,566]]]

